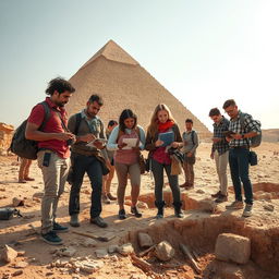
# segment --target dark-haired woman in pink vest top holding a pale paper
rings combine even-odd
[[[142,126],[137,125],[137,117],[131,109],[124,109],[119,118],[119,125],[116,126],[109,137],[108,150],[114,151],[114,167],[118,175],[118,204],[119,219],[125,219],[124,209],[125,189],[128,175],[131,180],[131,213],[140,218],[136,204],[140,195],[141,170],[140,151],[145,146],[145,133]]]

